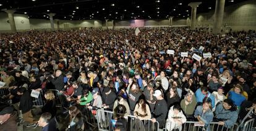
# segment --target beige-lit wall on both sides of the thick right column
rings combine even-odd
[[[214,10],[197,15],[198,25],[213,25]],[[256,0],[244,1],[224,9],[223,25],[233,30],[256,30]]]

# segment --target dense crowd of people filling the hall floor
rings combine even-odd
[[[255,31],[215,35],[184,27],[134,32],[1,34],[1,88],[10,91],[4,97],[12,100],[28,127],[38,124],[43,130],[56,130],[48,125],[56,125],[52,119],[58,110],[50,89],[69,102],[67,130],[85,129],[83,109],[96,115],[101,115],[99,109],[113,111],[115,130],[127,130],[124,118],[129,115],[136,122],[157,121],[169,131],[181,130],[186,121],[200,122],[200,130],[210,130],[210,122],[229,129],[256,117]],[[32,90],[44,91],[46,101],[38,121],[31,112]]]

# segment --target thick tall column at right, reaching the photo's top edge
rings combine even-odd
[[[214,22],[213,22],[213,33],[221,32],[224,6],[225,6],[225,0],[216,0],[215,15],[214,15]]]

